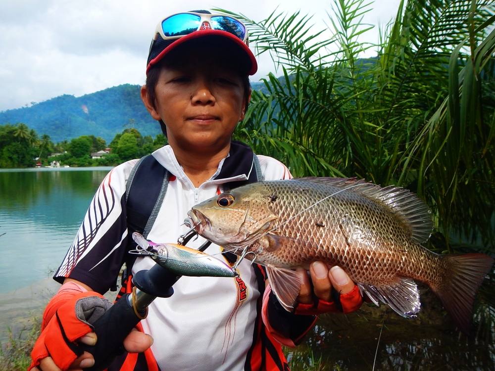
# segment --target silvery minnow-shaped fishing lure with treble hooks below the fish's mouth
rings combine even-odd
[[[138,244],[137,255],[149,255],[156,263],[180,276],[190,277],[236,277],[237,273],[221,260],[204,252],[176,245],[174,243],[154,243],[140,233],[132,233]]]

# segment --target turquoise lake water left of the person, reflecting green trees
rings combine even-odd
[[[0,169],[0,293],[51,276],[110,169]]]

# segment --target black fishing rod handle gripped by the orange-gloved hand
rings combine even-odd
[[[194,229],[181,235],[178,244],[185,246],[191,238],[197,236]],[[203,252],[211,244],[205,241],[198,251]],[[91,353],[95,365],[88,371],[106,369],[116,356],[124,352],[123,341],[131,330],[148,315],[148,306],[157,297],[168,298],[174,293],[173,285],[182,275],[178,275],[159,264],[149,270],[136,273],[132,278],[132,293],[123,295],[93,325],[97,335],[96,345],[81,344],[80,355],[84,351]]]

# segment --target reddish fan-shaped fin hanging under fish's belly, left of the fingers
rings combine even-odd
[[[294,311],[297,295],[301,290],[301,280],[296,271],[266,266],[268,282],[280,304],[288,312]]]

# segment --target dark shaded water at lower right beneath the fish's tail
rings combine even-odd
[[[291,354],[293,370],[372,370],[375,353],[375,370],[495,370],[493,322],[475,323],[467,337],[455,330],[431,291],[423,292],[421,301],[415,320],[374,304],[349,315],[322,316]],[[480,319],[480,310],[493,315],[493,309],[480,306],[475,318]],[[480,326],[489,326],[484,328],[488,338],[480,336]]]

